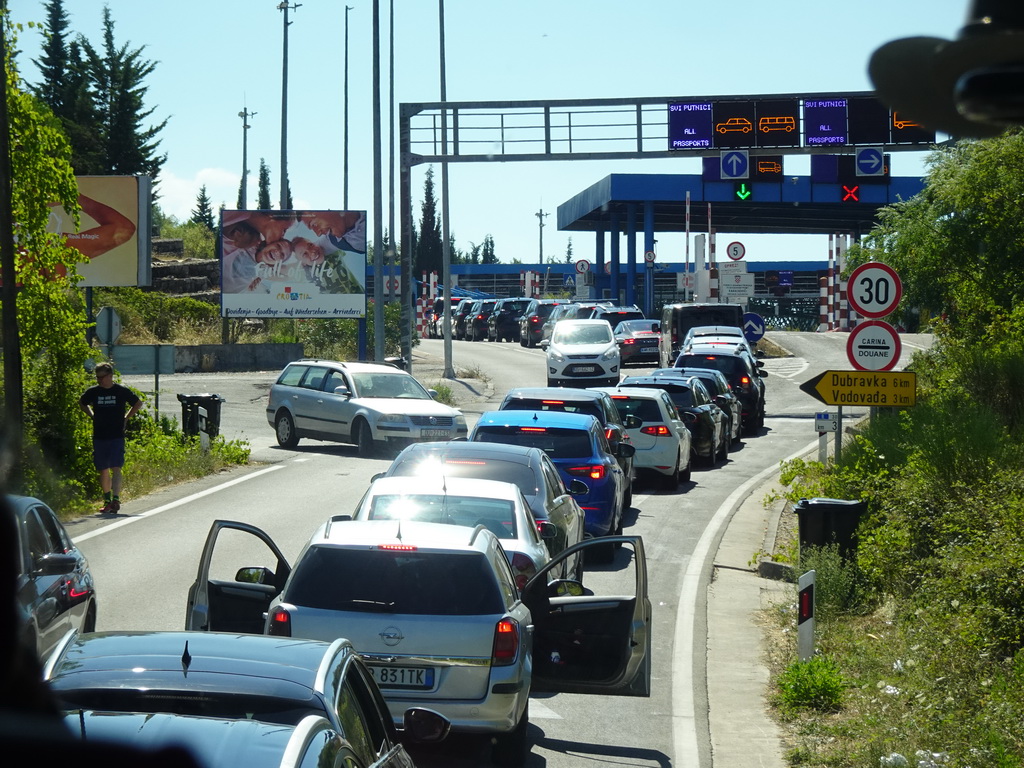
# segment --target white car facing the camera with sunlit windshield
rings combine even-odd
[[[546,353],[549,387],[607,387],[618,383],[618,345],[605,321],[558,321]]]

